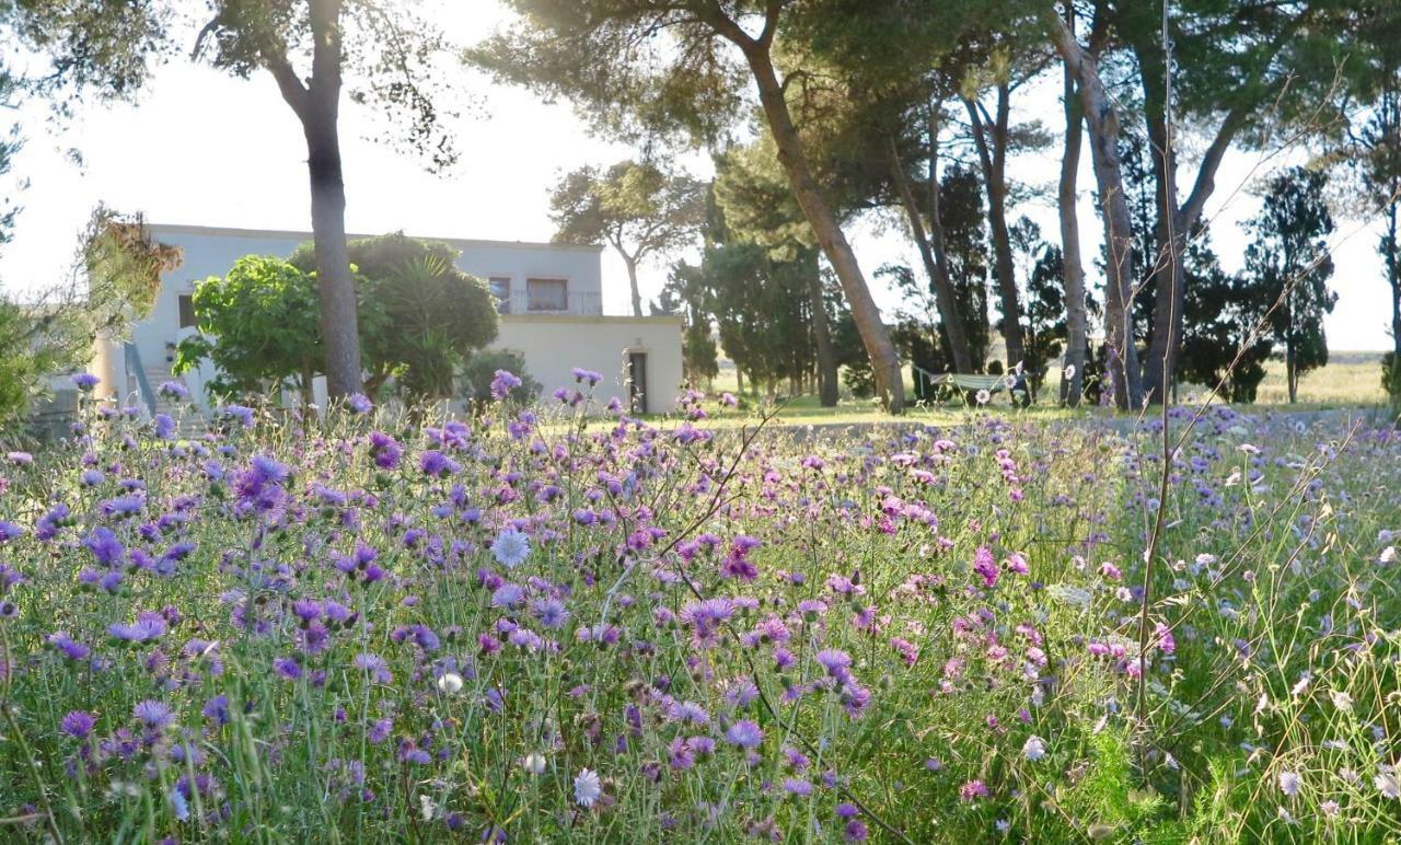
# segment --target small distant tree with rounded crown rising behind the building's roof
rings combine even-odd
[[[560,244],[608,242],[628,268],[632,315],[642,317],[637,265],[686,247],[705,219],[706,186],[650,161],[619,161],[598,172],[579,168],[551,193]]]

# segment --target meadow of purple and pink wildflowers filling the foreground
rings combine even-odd
[[[0,841],[1401,837],[1397,432],[591,380],[8,454]]]

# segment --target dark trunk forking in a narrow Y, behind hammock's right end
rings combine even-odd
[[[1007,350],[1006,369],[1010,371],[1026,362],[1021,341],[1021,305],[1017,297],[1017,270],[1012,256],[1012,234],[1007,230],[1007,121],[1012,91],[1007,83],[998,84],[998,115],[989,123],[979,105],[964,97],[972,137],[982,163],[982,181],[988,189],[988,223],[992,228],[993,276],[1002,300],[1002,341]],[[989,143],[988,135],[992,133]]]

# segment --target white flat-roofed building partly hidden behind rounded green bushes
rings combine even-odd
[[[175,345],[196,332],[195,283],[223,276],[244,255],[286,258],[311,240],[304,231],[147,226],[156,241],[179,247],[181,265],[163,275],[151,314],[126,343],[99,342],[94,371],[123,401],[149,404],[165,381],[184,381],[200,402],[213,371],[171,373]],[[350,235],[364,237],[364,235]],[[602,247],[524,241],[446,241],[458,266],[486,279],[500,310],[496,349],[518,352],[542,385],[542,398],[573,385],[573,367],[604,374],[597,395],[618,397],[637,412],[674,406],[681,384],[681,318],[611,317],[602,312]],[[319,380],[318,380],[319,381]]]

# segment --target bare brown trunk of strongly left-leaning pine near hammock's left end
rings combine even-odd
[[[846,241],[846,235],[842,234],[836,214],[827,205],[817,181],[813,178],[797,128],[793,126],[787,102],[783,99],[783,87],[773,70],[768,45],[752,39],[740,43],[759,88],[759,102],[764,105],[769,132],[773,135],[779,163],[789,178],[793,198],[803,209],[808,226],[813,227],[813,234],[817,235],[828,263],[832,265],[836,277],[842,282],[856,329],[862,335],[866,355],[871,359],[877,391],[891,413],[904,413],[905,384],[901,376],[899,355],[895,352],[895,343],[891,342],[890,331],[881,321],[880,308],[876,307],[862,268],[856,262],[856,254]]]

